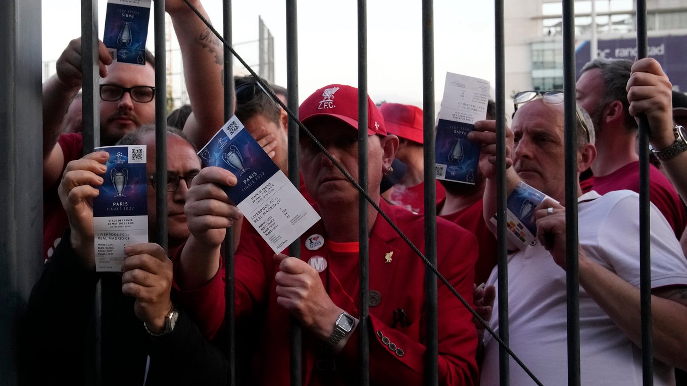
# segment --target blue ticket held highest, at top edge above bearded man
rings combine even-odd
[[[108,0],[102,43],[113,62],[146,65],[150,0]]]

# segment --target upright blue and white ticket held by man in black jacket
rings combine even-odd
[[[93,198],[95,271],[120,272],[124,247],[148,242],[146,146],[104,146],[110,157]]]

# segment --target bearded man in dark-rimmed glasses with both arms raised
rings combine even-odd
[[[205,16],[200,0],[191,3]],[[210,29],[183,0],[168,0],[181,47],[184,78],[193,114],[184,132],[203,146],[224,123],[223,49]],[[100,145],[109,146],[142,124],[155,123],[155,59],[146,51],[146,65],[112,63],[98,42],[100,89]],[[82,153],[82,137],[60,136],[65,112],[81,84],[81,39],[71,41],[56,63],[56,75],[43,84],[43,258],[47,259],[67,226],[57,199],[58,181],[67,162]],[[97,97],[96,97],[97,98]],[[90,130],[91,128],[85,128]]]

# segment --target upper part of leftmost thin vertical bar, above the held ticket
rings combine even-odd
[[[100,146],[100,75],[98,72],[98,1],[81,0],[81,82],[83,152]]]

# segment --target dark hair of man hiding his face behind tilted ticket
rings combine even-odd
[[[261,80],[267,85],[267,89],[272,91],[269,83],[262,78]],[[262,114],[268,121],[280,124],[280,106],[267,93],[262,91],[258,81],[253,76],[235,77],[234,82],[236,83],[234,86],[236,90],[240,90],[243,87],[253,87],[252,97],[247,100],[240,100],[239,95],[242,93],[236,95],[236,117],[238,120],[245,123],[252,117]]]

